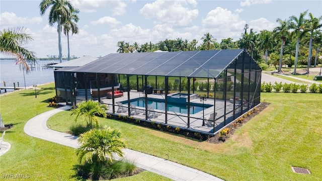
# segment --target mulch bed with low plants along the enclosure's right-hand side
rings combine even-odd
[[[252,114],[245,114],[245,116],[243,116],[243,121],[241,121],[241,123],[236,122],[237,120],[233,121],[233,123],[231,123],[229,126],[226,127],[226,128],[229,128],[229,130],[230,130],[230,133],[228,136],[219,137],[219,134],[216,134],[215,136],[208,138],[206,141],[210,142],[210,143],[214,143],[214,144],[219,144],[219,143],[225,142],[227,139],[230,138],[230,136],[233,135],[233,133],[237,129],[242,127],[245,123],[250,121],[254,116],[258,115],[261,111],[263,111],[269,105],[270,105],[269,103],[261,103],[258,107],[256,107],[257,108],[256,111],[254,111]]]

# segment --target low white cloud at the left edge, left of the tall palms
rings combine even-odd
[[[0,22],[2,27],[25,25],[25,24],[40,24],[41,17],[18,17],[15,13],[4,12],[0,14]]]

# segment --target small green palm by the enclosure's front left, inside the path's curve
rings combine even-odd
[[[96,124],[96,127],[99,126],[96,115],[102,115],[106,118],[107,110],[108,108],[105,105],[90,100],[77,104],[77,108],[71,110],[70,115],[75,115],[75,122],[79,116],[83,115],[84,120],[87,122],[87,126],[93,128],[93,122]]]

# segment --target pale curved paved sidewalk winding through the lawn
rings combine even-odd
[[[68,110],[65,106],[57,108],[30,119],[24,128],[25,133],[30,136],[48,140],[65,146],[77,148],[79,146],[76,136],[53,131],[46,126],[48,118],[52,115]],[[145,170],[166,176],[173,180],[222,180],[208,173],[138,151],[124,149],[124,157],[128,160],[134,160],[135,164]]]

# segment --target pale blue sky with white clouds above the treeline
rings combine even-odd
[[[48,25],[48,12],[40,16],[41,1],[0,2],[0,28],[25,27],[34,40],[25,47],[37,57],[58,55],[57,26]],[[254,31],[272,30],[278,18],[299,17],[308,10],[322,15],[322,1],[90,1],[72,0],[80,10],[79,34],[70,37],[70,54],[105,56],[116,53],[117,42],[143,44],[182,38],[189,41],[209,32],[217,42],[240,38],[245,24]],[[308,17],[306,17],[308,18]],[[67,38],[62,34],[62,54],[67,55]],[[4,57],[4,55],[1,55]]]

